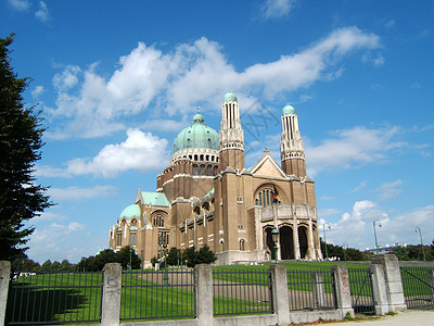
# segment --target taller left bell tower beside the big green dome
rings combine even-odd
[[[221,104],[220,126],[220,170],[228,166],[243,170],[244,163],[244,131],[241,128],[240,108],[237,96],[228,91]]]

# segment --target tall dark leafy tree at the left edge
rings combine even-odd
[[[34,176],[44,129],[34,108],[24,106],[22,92],[29,79],[17,78],[10,64],[13,37],[0,38],[0,260],[13,260],[27,249],[35,228],[24,222],[51,205],[47,188]]]

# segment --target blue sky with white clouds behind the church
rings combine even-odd
[[[376,218],[381,246],[419,243],[417,226],[434,238],[432,1],[0,3],[0,37],[16,33],[12,65],[48,128],[38,180],[58,203],[30,221],[31,259],[106,248],[197,106],[219,129],[228,90],[247,166],[266,147],[279,162],[294,105],[330,242],[372,248]]]

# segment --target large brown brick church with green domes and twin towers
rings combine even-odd
[[[220,131],[195,114],[175,139],[156,192],[137,191],[110,229],[110,247],[131,246],[150,265],[171,247],[208,244],[217,264],[275,259],[271,231],[279,231],[278,260],[320,260],[315,184],[306,176],[298,117],[282,110],[281,162],[268,149],[245,166],[244,131],[237,96],[221,104]]]

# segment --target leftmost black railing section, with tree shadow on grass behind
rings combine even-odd
[[[100,322],[103,273],[16,273],[8,325]]]

